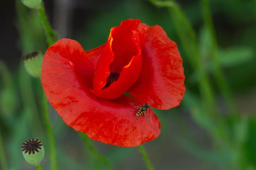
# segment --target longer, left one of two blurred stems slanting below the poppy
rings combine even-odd
[[[82,132],[79,132],[79,134],[81,135],[83,141],[85,142],[86,146],[88,147],[91,155],[95,156],[98,160],[100,160],[108,170],[114,170],[114,168],[110,165],[109,161],[103,155],[101,155],[99,152],[97,152],[97,150],[92,145],[89,137],[85,133],[82,133]]]

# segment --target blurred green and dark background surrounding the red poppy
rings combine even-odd
[[[85,51],[104,44],[110,28],[128,18],[162,26],[177,43],[186,76],[184,99],[177,108],[155,110],[161,134],[143,144],[156,170],[255,170],[256,0],[209,0],[215,34],[204,22],[203,0],[176,2],[195,31],[196,43],[179,34],[182,29],[175,27],[178,14],[174,10],[155,7],[147,0],[44,0],[59,38],[77,40]],[[9,169],[34,170],[23,159],[20,147],[25,140],[38,138],[45,147],[41,165],[50,170],[43,89],[39,79],[27,74],[21,60],[31,51],[46,51],[43,26],[37,11],[26,8],[20,0],[1,2],[0,23],[0,158],[4,160],[5,155]],[[211,48],[216,43],[217,48]],[[189,53],[189,48],[196,49],[198,56]],[[215,59],[210,57],[213,53]],[[201,70],[193,64],[193,57],[199,58]],[[216,60],[224,79],[214,74]],[[204,101],[200,71],[208,77],[215,115],[208,114],[213,110]],[[225,83],[226,90],[221,88]],[[50,111],[58,169],[107,169],[90,154],[79,133]],[[115,170],[147,169],[138,148],[90,142]],[[0,169],[4,168],[0,163]]]

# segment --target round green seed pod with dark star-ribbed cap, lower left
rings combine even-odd
[[[29,139],[22,144],[22,155],[26,161],[34,166],[38,166],[43,160],[45,149],[38,139]]]

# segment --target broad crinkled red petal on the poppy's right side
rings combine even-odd
[[[127,91],[158,109],[178,106],[185,93],[182,58],[160,26],[147,26],[143,63],[137,82]]]

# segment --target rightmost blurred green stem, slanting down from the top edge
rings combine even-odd
[[[233,114],[237,114],[238,111],[236,108],[236,104],[234,102],[234,97],[230,91],[230,88],[227,84],[225,76],[223,75],[220,62],[218,60],[219,59],[218,43],[216,40],[216,33],[214,31],[213,21],[212,21],[210,7],[209,7],[209,1],[201,0],[201,6],[202,6],[202,15],[204,19],[204,25],[210,30],[210,33],[211,33],[212,46],[209,54],[211,56],[211,61],[213,64],[213,74],[216,78],[218,86],[220,87],[220,90],[222,91],[222,94],[224,95],[227,101],[227,106],[229,107],[230,112]]]

